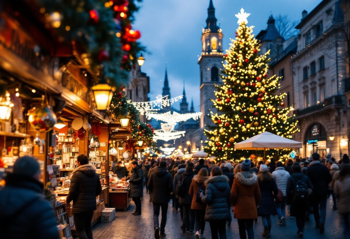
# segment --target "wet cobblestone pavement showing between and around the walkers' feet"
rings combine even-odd
[[[116,219],[110,223],[98,223],[93,227],[93,236],[95,239],[146,239],[154,238],[153,230],[153,207],[149,202],[149,194],[144,191],[142,202],[142,215],[133,216],[131,213],[135,210],[135,204],[131,201],[131,205],[126,212],[117,211]],[[315,229],[315,221],[311,215],[310,221],[305,223],[304,238],[307,239],[341,239],[343,238],[342,220],[337,211],[332,210],[332,199],[327,201],[327,218],[325,223],[324,234],[319,234]],[[287,213],[288,214],[288,213]],[[159,216],[160,222],[161,216]],[[271,237],[273,239],[293,239],[299,238],[296,234],[297,227],[295,219],[286,215],[286,226],[277,224],[278,217],[272,217]],[[193,235],[183,234],[180,230],[181,220],[180,213],[174,212],[172,209],[172,201],[169,203],[167,225],[165,227],[166,237],[164,239],[194,239]],[[258,222],[254,223],[255,238],[262,237],[263,226],[261,217]],[[211,239],[210,227],[207,222],[204,234],[207,239]],[[228,239],[239,238],[237,219],[232,220],[230,227],[226,227],[226,235]]]

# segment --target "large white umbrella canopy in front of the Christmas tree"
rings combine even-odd
[[[283,138],[270,132],[260,133],[249,139],[235,144],[237,150],[265,150],[265,149],[295,149],[302,148],[302,143]]]

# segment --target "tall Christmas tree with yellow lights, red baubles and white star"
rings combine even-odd
[[[247,27],[247,16],[241,12],[236,38],[226,50],[220,77],[223,85],[216,85],[216,99],[211,99],[218,113],[211,113],[213,126],[204,133],[208,137],[204,151],[217,159],[240,161],[254,151],[235,150],[234,144],[268,131],[292,138],[297,131],[294,117],[288,117],[292,106],[282,102],[286,94],[275,95],[279,77],[267,77],[269,51],[259,54],[259,43]],[[268,150],[269,157],[287,157],[291,150]]]

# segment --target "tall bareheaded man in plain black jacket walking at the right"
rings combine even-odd
[[[307,168],[306,175],[314,186],[310,203],[314,212],[316,228],[320,228],[320,234],[323,234],[326,218],[328,184],[332,181],[332,176],[328,168],[321,164],[320,155],[318,153],[312,154],[312,162]],[[318,207],[320,207],[320,212],[318,212]]]

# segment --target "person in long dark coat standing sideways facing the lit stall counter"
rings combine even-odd
[[[138,216],[141,215],[141,197],[144,196],[144,171],[137,161],[132,161],[131,166],[130,197],[136,206],[135,212],[131,214]]]

